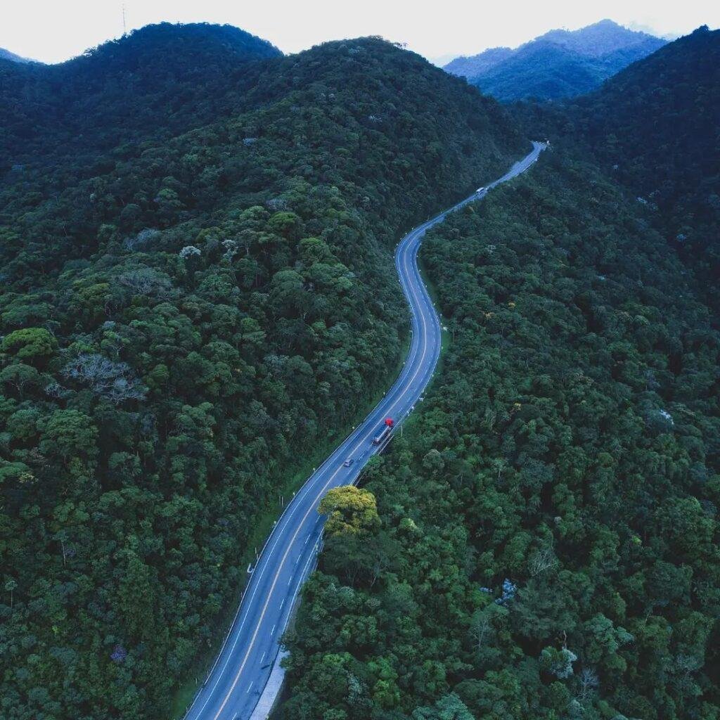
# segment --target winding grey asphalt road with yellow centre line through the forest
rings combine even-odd
[[[288,503],[253,569],[230,632],[189,707],[186,720],[250,718],[279,652],[279,640],[294,600],[315,565],[323,531],[323,518],[317,512],[320,499],[330,487],[356,482],[369,457],[379,451],[372,439],[382,428],[384,418],[394,418],[397,427],[413,410],[433,377],[440,355],[441,326],[418,270],[417,254],[423,235],[428,228],[443,222],[450,212],[484,197],[488,189],[521,174],[545,147],[543,143],[533,143],[532,152],[503,177],[423,222],[398,244],[395,266],[410,304],[413,327],[402,372],[377,407]],[[346,458],[354,459],[350,467],[343,466]]]

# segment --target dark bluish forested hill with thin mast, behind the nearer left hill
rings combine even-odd
[[[89,165],[97,174],[101,150],[171,138],[244,109],[264,67],[257,61],[280,55],[230,25],[163,23],[58,65],[0,59],[0,173],[58,157],[66,173]]]

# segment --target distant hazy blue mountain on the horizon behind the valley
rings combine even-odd
[[[585,94],[665,40],[601,20],[580,30],[551,30],[516,50],[491,48],[445,66],[500,100]]]

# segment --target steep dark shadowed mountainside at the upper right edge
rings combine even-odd
[[[700,28],[635,63],[570,117],[720,307],[720,31]]]

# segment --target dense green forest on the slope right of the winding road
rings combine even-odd
[[[651,220],[556,148],[428,234],[443,372],[333,498],[282,720],[720,717],[720,333]]]

